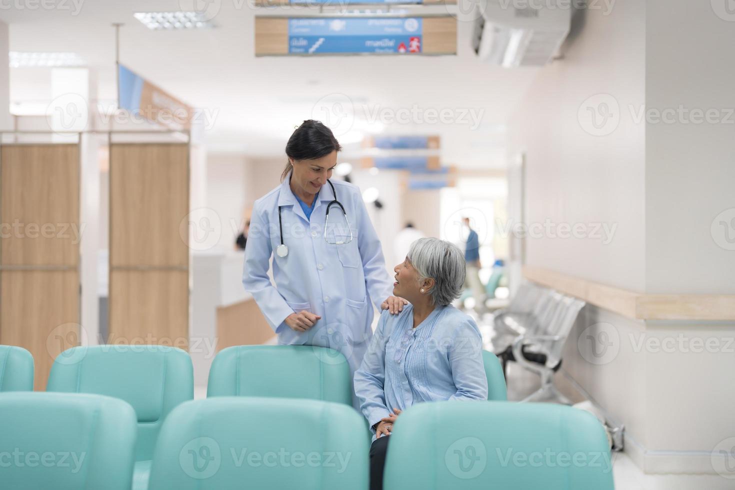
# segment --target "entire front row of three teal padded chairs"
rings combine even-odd
[[[128,490],[135,411],[96,394],[0,395],[0,481],[14,490]],[[150,490],[368,489],[368,441],[350,406],[212,397],[171,411]],[[387,490],[612,490],[592,414],[551,404],[422,403],[390,436]]]

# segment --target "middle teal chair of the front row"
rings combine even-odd
[[[365,424],[319,400],[214,397],[163,424],[150,490],[367,490]]]

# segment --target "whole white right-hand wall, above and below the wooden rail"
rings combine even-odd
[[[526,264],[638,292],[735,292],[735,252],[711,233],[714,217],[735,207],[735,126],[637,120],[644,108],[735,107],[735,66],[720,48],[735,45],[735,24],[714,14],[716,3],[587,10],[562,60],[539,71],[508,131],[509,159],[526,154],[526,223],[617,228],[609,243],[528,237]],[[626,451],[646,472],[714,473],[711,451],[735,436],[735,393],[723,389],[735,372],[734,331],[587,306],[562,370],[625,424]],[[609,342],[602,362],[590,338]],[[708,341],[719,348],[696,351]]]

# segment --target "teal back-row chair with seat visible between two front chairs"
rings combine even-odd
[[[164,419],[173,408],[194,397],[194,370],[189,354],[176,347],[72,347],[54,361],[46,391],[106,394],[135,408],[133,489],[144,490]]]

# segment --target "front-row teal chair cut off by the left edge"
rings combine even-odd
[[[96,394],[0,394],[0,488],[129,490],[135,411]]]

